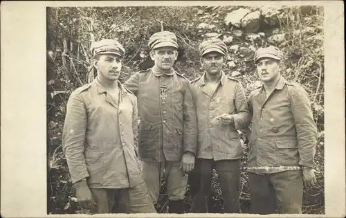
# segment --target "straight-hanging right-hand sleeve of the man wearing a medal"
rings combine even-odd
[[[196,107],[192,98],[190,82],[186,81],[186,88],[183,97],[183,147],[185,152],[197,153],[197,116]]]

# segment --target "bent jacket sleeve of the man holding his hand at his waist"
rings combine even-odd
[[[244,88],[239,82],[235,87],[235,111],[236,113],[233,115],[235,120],[235,129],[247,127],[251,118],[248,111]]]

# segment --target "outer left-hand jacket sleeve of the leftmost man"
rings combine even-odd
[[[86,108],[78,93],[72,93],[66,108],[62,146],[72,182],[89,177],[84,157]]]

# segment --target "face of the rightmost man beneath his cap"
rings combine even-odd
[[[262,82],[273,82],[280,75],[280,62],[272,58],[264,57],[257,61],[257,73]]]

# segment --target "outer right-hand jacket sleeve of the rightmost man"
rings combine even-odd
[[[300,165],[313,167],[316,153],[317,127],[313,120],[310,100],[302,87],[294,87],[291,93],[291,109],[298,141]]]

